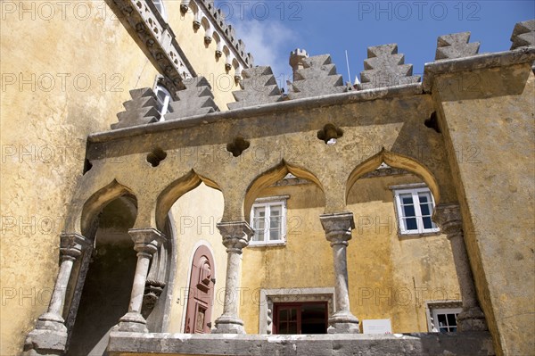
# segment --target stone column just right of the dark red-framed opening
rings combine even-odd
[[[329,318],[329,334],[358,334],[358,319],[350,311],[350,294],[348,285],[348,261],[346,250],[351,239],[351,230],[355,228],[353,213],[340,212],[320,215],[325,237],[333,247],[335,312]]]

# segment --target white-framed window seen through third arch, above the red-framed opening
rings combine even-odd
[[[260,198],[251,207],[251,245],[286,242],[286,199],[289,196]]]

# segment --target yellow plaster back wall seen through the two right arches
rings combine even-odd
[[[348,247],[351,311],[358,319],[391,319],[396,333],[426,332],[425,302],[459,300],[457,274],[444,235],[400,238],[389,186],[418,183],[412,175],[361,178],[350,190],[356,228]],[[312,184],[269,187],[290,195],[285,246],[243,252],[240,317],[259,332],[259,289],[333,287],[333,255],[319,222],[323,193]]]

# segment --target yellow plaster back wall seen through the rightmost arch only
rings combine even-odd
[[[395,333],[427,332],[425,302],[460,300],[445,235],[398,235],[389,186],[421,182],[411,175],[362,178],[350,190],[355,230],[348,247],[351,311],[358,319],[391,319]]]

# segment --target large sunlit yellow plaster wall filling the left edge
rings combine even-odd
[[[62,4],[2,2],[2,355],[21,352],[48,305],[86,136],[157,74],[103,1]]]

